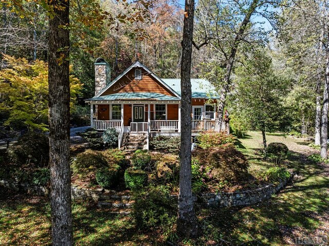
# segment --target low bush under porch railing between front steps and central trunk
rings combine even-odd
[[[180,148],[180,137],[157,136],[151,139],[150,149],[164,153],[177,154]]]

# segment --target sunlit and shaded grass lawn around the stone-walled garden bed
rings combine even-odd
[[[288,168],[298,177],[272,199],[248,207],[197,208],[202,235],[178,245],[295,245],[299,236],[329,235],[329,167],[307,160],[316,153],[303,139],[269,134],[268,143],[283,142],[290,152]],[[250,172],[272,165],[257,155],[262,135],[249,132],[239,139]],[[50,245],[50,206],[45,198],[28,197],[0,188],[0,245]],[[85,203],[72,205],[76,245],[166,245],[160,230],[140,231],[129,216],[111,215]]]

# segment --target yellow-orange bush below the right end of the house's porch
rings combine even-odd
[[[201,133],[196,136],[196,143],[202,148],[218,147],[218,146],[233,146],[235,137],[226,135],[226,133]]]

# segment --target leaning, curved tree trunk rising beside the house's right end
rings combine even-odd
[[[234,60],[235,60],[235,54],[237,51],[237,48],[239,47],[240,42],[243,40],[242,35],[244,34],[247,24],[250,21],[250,17],[257,8],[259,0],[253,0],[252,3],[249,6],[249,9],[247,10],[247,13],[241,23],[241,26],[239,28],[239,31],[237,32],[233,46],[230,51],[230,56],[228,57],[228,60],[226,62],[226,74],[224,77],[224,86],[221,91],[221,98],[218,102],[218,109],[217,109],[217,115],[218,115],[218,123],[219,123],[219,130],[222,130],[222,120],[223,120],[223,113],[224,113],[224,107],[225,107],[225,101],[226,101],[226,95],[229,90],[230,85],[230,78],[231,78],[231,71],[233,68]]]

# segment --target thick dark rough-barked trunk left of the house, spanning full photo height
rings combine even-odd
[[[69,165],[69,0],[52,2],[49,19],[49,164],[52,245],[72,245]],[[55,7],[56,6],[56,7]]]

